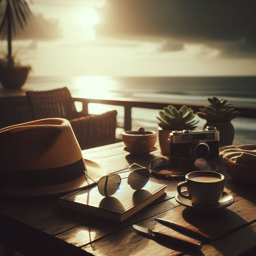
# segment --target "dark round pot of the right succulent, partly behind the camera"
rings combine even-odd
[[[206,126],[215,126],[219,131],[219,146],[232,145],[235,132],[234,132],[234,127],[230,121],[229,122],[207,121],[204,125],[204,128]]]

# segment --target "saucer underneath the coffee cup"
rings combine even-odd
[[[185,207],[204,209],[204,210],[208,210],[208,209],[213,210],[213,209],[228,207],[228,206],[232,205],[232,203],[235,200],[234,197],[232,195],[228,194],[227,192],[223,192],[221,198],[219,199],[219,203],[216,206],[212,206],[212,207],[195,206],[192,204],[190,199],[184,198],[184,197],[180,196],[179,194],[177,194],[175,196],[175,199],[179,204],[181,204]]]

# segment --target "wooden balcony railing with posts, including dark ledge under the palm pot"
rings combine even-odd
[[[131,130],[132,127],[132,108],[156,109],[161,110],[169,104],[180,108],[183,104],[175,102],[156,102],[134,98],[115,98],[115,99],[98,99],[98,98],[74,98],[75,101],[81,102],[82,111],[88,113],[88,104],[106,104],[112,106],[124,107],[124,128],[125,131]],[[203,105],[186,104],[194,112],[198,111]],[[239,107],[235,110],[241,111],[241,117],[256,118],[256,107]],[[25,96],[1,97],[0,98],[0,128],[8,125],[31,121],[31,113]]]

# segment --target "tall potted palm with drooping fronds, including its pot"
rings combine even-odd
[[[30,66],[21,66],[12,55],[12,37],[24,28],[31,11],[26,0],[1,0],[0,37],[7,39],[8,53],[0,60],[0,82],[6,89],[19,89],[24,85]]]

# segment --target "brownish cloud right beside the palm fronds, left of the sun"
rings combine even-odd
[[[17,33],[17,40],[56,40],[61,38],[61,28],[58,20],[45,19],[42,14],[31,15],[21,33]]]

